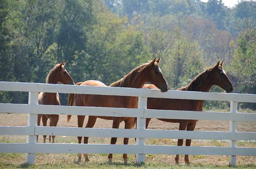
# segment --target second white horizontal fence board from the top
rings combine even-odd
[[[144,116],[143,116],[143,112]],[[97,115],[195,120],[256,121],[256,113],[224,113],[178,110],[150,110],[110,107],[79,107],[0,103],[0,113],[33,113],[65,115]]]

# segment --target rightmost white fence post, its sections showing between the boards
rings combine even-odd
[[[237,102],[230,101],[230,113],[237,113]],[[236,135],[236,121],[230,121],[230,132]],[[230,140],[230,147],[236,147],[236,140]],[[229,156],[229,165],[236,166],[236,155]]]

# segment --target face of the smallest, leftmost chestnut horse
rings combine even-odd
[[[58,82],[61,82],[65,85],[74,85],[73,79],[70,77],[67,70],[64,68],[65,64],[66,62],[62,62],[59,65],[58,73],[57,73]]]

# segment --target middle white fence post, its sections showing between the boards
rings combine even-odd
[[[139,97],[139,109],[146,109],[147,108],[147,98],[146,97]],[[137,129],[146,129],[146,119],[145,118],[137,118]],[[137,138],[136,139],[137,145],[145,145],[145,138]],[[136,155],[137,163],[144,163],[146,161],[145,154],[137,154]]]

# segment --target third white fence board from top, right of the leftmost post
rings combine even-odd
[[[237,134],[237,136],[236,136]],[[200,140],[256,140],[256,132],[208,132],[178,130],[35,127],[35,135],[65,135],[120,138],[175,138]]]

